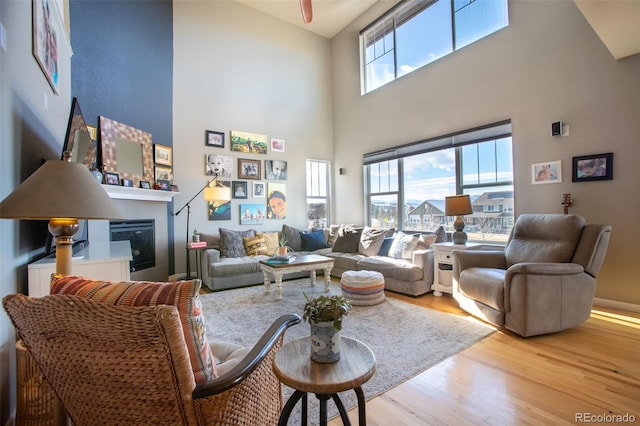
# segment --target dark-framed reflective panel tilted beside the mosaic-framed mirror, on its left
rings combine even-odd
[[[64,159],[64,153],[69,151],[72,162],[82,163],[89,169],[94,169],[98,159],[97,148],[96,141],[91,139],[87,123],[80,109],[80,103],[77,98],[73,98],[67,133],[62,147],[62,158]]]

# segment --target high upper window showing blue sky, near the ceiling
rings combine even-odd
[[[507,0],[405,0],[360,32],[362,92],[509,24]]]

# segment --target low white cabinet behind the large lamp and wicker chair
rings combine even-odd
[[[100,280],[123,281],[131,279],[129,241],[90,243],[73,256],[71,273]],[[29,264],[29,296],[41,297],[49,294],[51,274],[56,272],[56,260],[45,257]]]

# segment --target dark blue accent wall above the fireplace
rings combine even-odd
[[[172,2],[71,0],[69,14],[71,93],[87,124],[97,126],[101,115],[173,146]],[[172,211],[168,203],[167,215]],[[169,250],[169,274],[174,269]]]

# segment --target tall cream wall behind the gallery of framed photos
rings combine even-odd
[[[173,156],[180,188],[174,210],[206,184],[206,153],[261,160],[263,175],[265,159],[282,159],[288,162],[287,218],[253,228],[305,227],[305,159],[333,158],[329,41],[232,1],[175,1],[173,16]],[[224,132],[225,148],[205,146],[205,130]],[[284,139],[285,152],[232,152],[231,130]],[[190,232],[194,226],[209,234],[249,228],[240,225],[241,202],[266,207],[266,198],[232,200],[230,221],[209,221],[202,196],[196,197]],[[176,272],[185,270],[185,227],[183,211],[175,218]]]

